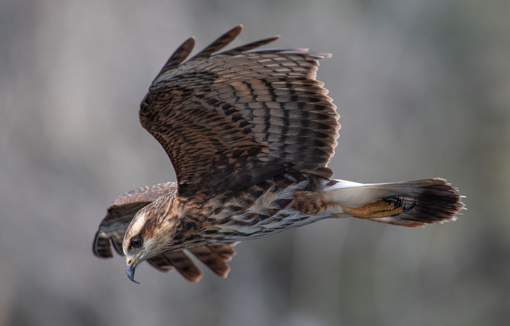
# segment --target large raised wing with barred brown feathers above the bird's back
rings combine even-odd
[[[163,146],[181,196],[247,188],[285,171],[324,177],[337,145],[338,114],[315,80],[308,49],[254,48],[251,42],[217,55],[237,26],[191,60],[190,38],[160,71],[140,106],[140,122]]]

